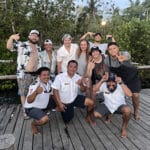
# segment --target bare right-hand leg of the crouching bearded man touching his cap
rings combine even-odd
[[[121,137],[125,138],[127,137],[127,124],[129,122],[130,116],[131,116],[131,109],[129,106],[125,105],[122,106],[121,112],[123,113],[123,122],[122,122],[122,128],[121,128]]]

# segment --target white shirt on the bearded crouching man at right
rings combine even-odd
[[[119,108],[119,106],[126,104],[125,93],[119,84],[117,84],[116,90],[111,93],[107,89],[106,82],[104,82],[101,85],[99,91],[104,93],[104,104],[107,106],[111,113],[114,113]]]

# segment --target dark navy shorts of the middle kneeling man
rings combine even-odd
[[[65,112],[61,112],[65,123],[68,123],[74,117],[74,107],[85,108],[85,96],[78,95],[73,103],[65,104]]]

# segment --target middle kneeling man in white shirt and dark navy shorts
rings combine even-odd
[[[93,124],[91,113],[94,102],[90,97],[78,95],[78,88],[82,90],[89,87],[86,81],[83,84],[81,76],[76,74],[78,63],[75,60],[70,60],[67,65],[67,72],[56,76],[52,88],[54,92],[57,109],[61,111],[62,118],[65,123],[68,123],[74,117],[74,106],[85,108],[87,107],[87,121]],[[85,82],[85,81],[84,81]]]

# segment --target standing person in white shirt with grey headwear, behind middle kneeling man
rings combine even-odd
[[[65,34],[62,38],[63,46],[57,51],[57,73],[66,72],[67,64],[70,60],[76,60],[78,46],[73,44],[70,34]]]

